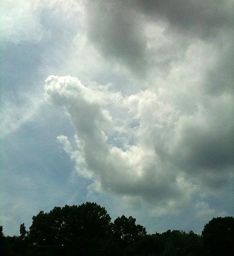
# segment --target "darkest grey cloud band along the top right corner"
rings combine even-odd
[[[163,19],[171,27],[201,37],[217,33],[216,29],[232,28],[233,4],[223,0],[129,0],[129,6],[152,19]]]

